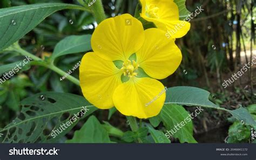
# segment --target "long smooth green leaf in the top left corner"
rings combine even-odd
[[[52,13],[63,9],[82,9],[64,3],[41,3],[0,9],[0,51],[21,39]]]

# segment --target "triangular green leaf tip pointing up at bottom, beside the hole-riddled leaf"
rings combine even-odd
[[[72,140],[66,143],[111,143],[109,133],[100,124],[97,118],[92,115],[84,126],[75,132]]]

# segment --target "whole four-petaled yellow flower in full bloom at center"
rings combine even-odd
[[[80,65],[84,97],[101,109],[115,106],[124,115],[157,115],[166,95],[156,79],[171,75],[182,58],[174,40],[158,28],[144,31],[139,20],[122,14],[97,26],[91,46],[94,52],[85,54]]]

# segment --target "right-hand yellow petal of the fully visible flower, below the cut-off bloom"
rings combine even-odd
[[[136,53],[137,63],[147,75],[163,79],[179,67],[182,59],[180,49],[173,39],[167,39],[165,32],[157,28],[145,30],[145,42]]]

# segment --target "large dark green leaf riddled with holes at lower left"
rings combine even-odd
[[[4,134],[0,137],[0,142],[58,142],[59,138],[68,133],[80,119],[97,110],[82,96],[58,92],[35,94],[22,100],[21,105],[22,111],[19,116],[0,130],[0,133]],[[85,106],[87,112],[83,109]],[[72,123],[70,126],[68,121]],[[63,124],[66,124],[65,128]],[[61,129],[61,126],[64,129]],[[59,133],[56,132],[57,129]]]

